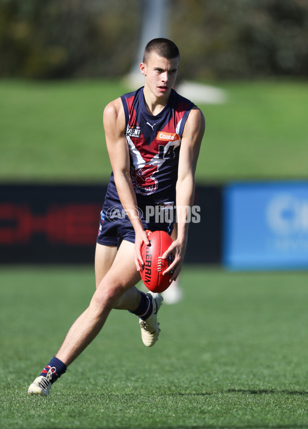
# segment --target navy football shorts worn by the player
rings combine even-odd
[[[173,219],[170,220],[169,216],[164,216],[163,210],[167,207],[166,204],[169,204],[168,207],[170,207],[170,204],[173,206],[173,202],[157,204],[157,211],[155,213],[152,213],[153,210],[151,209],[152,216],[147,215],[148,211],[146,206],[139,207],[144,230],[160,230],[171,235],[174,221]],[[108,204],[105,201],[103,210],[101,211],[97,243],[105,246],[117,246],[119,249],[122,240],[134,243],[135,232],[132,223],[121,204],[113,204],[113,206],[111,206],[110,203]]]

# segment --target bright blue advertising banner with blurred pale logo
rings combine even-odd
[[[223,205],[227,268],[308,268],[308,181],[230,183]]]

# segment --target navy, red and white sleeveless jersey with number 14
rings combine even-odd
[[[180,145],[184,125],[194,103],[171,89],[157,116],[148,113],[143,87],[121,97],[125,111],[130,175],[138,205],[175,201]],[[113,174],[106,198],[119,198]]]

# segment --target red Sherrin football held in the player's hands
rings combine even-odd
[[[174,261],[174,255],[170,253],[166,259],[162,255],[173,243],[172,238],[165,231],[154,231],[148,233],[150,246],[141,245],[141,256],[144,265],[141,267],[140,275],[143,283],[151,292],[163,292],[170,286],[170,276],[174,272],[163,275],[163,272]]]

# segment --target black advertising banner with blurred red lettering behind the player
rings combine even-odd
[[[93,264],[107,185],[0,186],[1,264]],[[221,262],[221,186],[197,186],[185,263]],[[196,246],[201,242],[202,246]]]

